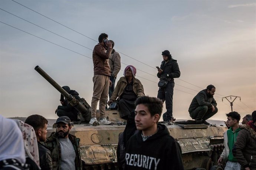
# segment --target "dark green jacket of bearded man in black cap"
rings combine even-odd
[[[82,161],[80,156],[79,142],[80,139],[74,135],[68,134],[68,138],[73,144],[76,152],[75,166],[76,170],[82,170]],[[56,170],[60,170],[60,160],[61,160],[61,150],[59,138],[56,136],[56,132],[52,132],[49,137],[47,137],[44,145],[50,150],[52,154],[53,163],[56,164]]]

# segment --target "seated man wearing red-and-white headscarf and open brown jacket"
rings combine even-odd
[[[140,80],[135,78],[135,75],[136,68],[128,65],[124,69],[124,77],[118,80],[114,92],[108,101],[108,105],[110,105],[118,97],[120,116],[123,119],[127,119],[128,115],[135,109],[135,100],[145,95],[143,85]]]

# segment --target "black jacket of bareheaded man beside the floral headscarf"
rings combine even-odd
[[[53,170],[53,161],[50,150],[43,146],[40,142],[37,142],[37,145],[41,170]]]

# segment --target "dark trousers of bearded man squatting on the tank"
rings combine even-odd
[[[215,115],[218,112],[218,108],[215,108],[215,111],[212,112],[211,108],[208,109],[208,106],[199,106],[193,112],[190,112],[190,117],[195,120],[207,120],[211,116]]]

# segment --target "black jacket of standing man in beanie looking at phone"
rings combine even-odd
[[[177,60],[171,58],[166,64],[162,61],[160,68],[163,70],[161,74],[157,73],[158,78],[171,79],[170,82],[174,83],[174,78],[180,77],[180,68]]]

